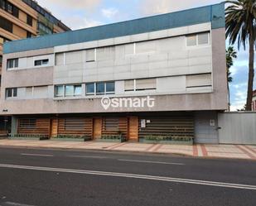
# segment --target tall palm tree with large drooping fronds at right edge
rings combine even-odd
[[[246,48],[249,42],[249,79],[246,110],[252,110],[252,99],[254,90],[254,46],[256,39],[256,0],[226,1],[226,37],[229,43],[238,43]]]

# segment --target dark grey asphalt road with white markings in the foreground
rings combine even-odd
[[[256,205],[256,161],[0,148],[0,205]]]

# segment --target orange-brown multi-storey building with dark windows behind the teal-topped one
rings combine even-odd
[[[63,31],[70,31],[70,28],[36,1],[0,0],[0,79],[4,42]],[[0,117],[0,131],[4,130],[6,121],[7,117]]]

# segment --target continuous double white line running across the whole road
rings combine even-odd
[[[114,177],[133,178],[133,179],[142,179],[142,180],[158,180],[158,181],[166,181],[166,182],[176,182],[176,183],[184,183],[184,184],[199,184],[199,185],[208,185],[208,186],[215,186],[215,187],[232,188],[232,189],[256,190],[256,185],[232,184],[232,183],[224,183],[224,182],[205,181],[205,180],[189,180],[189,179],[171,178],[171,177],[153,176],[153,175],[136,175],[136,174],[126,174],[126,173],[117,173],[117,172],[104,172],[104,171],[95,171],[95,170],[73,170],[73,169],[27,166],[27,165],[0,164],[0,167],[11,168],[11,169],[21,169],[21,170],[64,172],[64,173],[83,174],[83,175],[114,176]]]

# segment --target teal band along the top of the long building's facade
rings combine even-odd
[[[92,28],[48,36],[39,36],[18,41],[9,41],[3,46],[3,53],[39,50],[87,41],[98,41],[118,36],[128,36],[151,31],[160,31],[181,26],[212,22],[212,28],[225,27],[225,3],[207,7],[192,8],[153,17],[144,17],[127,22],[95,26]]]

